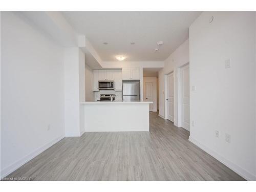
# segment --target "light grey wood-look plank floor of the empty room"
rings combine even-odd
[[[8,177],[32,180],[244,180],[188,141],[189,132],[150,113],[150,132],[66,137]]]

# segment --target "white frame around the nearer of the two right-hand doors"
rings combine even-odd
[[[189,65],[189,62],[179,67],[177,70],[177,126],[182,127],[182,79],[181,79],[181,68]],[[189,70],[189,90],[190,90],[190,70]],[[190,100],[190,98],[189,98]]]

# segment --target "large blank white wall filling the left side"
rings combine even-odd
[[[63,49],[1,13],[1,177],[65,136]]]

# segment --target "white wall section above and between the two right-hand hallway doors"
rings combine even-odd
[[[165,61],[164,68],[158,73],[159,79],[159,115],[167,119],[165,116],[165,98],[164,98],[164,76],[170,72],[174,72],[174,124],[178,126],[178,75],[180,67],[189,62],[189,41],[188,39],[175,50]],[[180,126],[180,125],[179,125]]]

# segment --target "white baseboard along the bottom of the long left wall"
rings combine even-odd
[[[51,147],[52,145],[54,145],[55,143],[59,142],[61,139],[63,139],[65,136],[60,136],[52,141],[50,141],[49,143],[45,144],[42,147],[37,148],[35,151],[33,151],[32,153],[26,155],[25,157],[17,160],[15,163],[13,163],[12,165],[3,168],[3,170],[1,170],[1,178],[4,178],[6,176],[8,176],[9,174],[11,174],[12,172],[14,172],[14,170],[16,170],[17,168],[19,168],[20,166],[24,165],[25,163],[27,163],[28,161],[30,161],[31,159],[33,159],[34,157],[36,157],[37,155],[39,155],[40,153],[44,152],[45,150],[47,150],[49,147]]]

